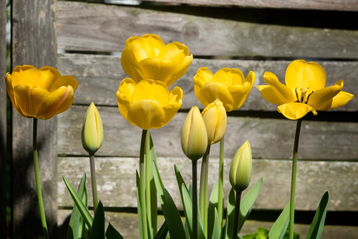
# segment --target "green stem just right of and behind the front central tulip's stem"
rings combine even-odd
[[[151,164],[149,151],[150,151],[150,133],[148,129],[145,137],[145,167],[144,167],[145,168],[145,205],[147,210],[147,218],[148,220],[151,220],[152,217],[151,217],[151,203],[150,203],[150,173],[151,173],[152,164]]]

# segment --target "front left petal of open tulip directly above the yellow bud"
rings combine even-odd
[[[199,101],[207,106],[214,100],[219,99],[223,102],[226,111],[231,111],[234,106],[234,100],[228,89],[219,82],[208,82],[203,85],[198,94]]]

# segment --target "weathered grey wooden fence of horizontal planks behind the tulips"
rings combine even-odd
[[[255,89],[256,85],[265,84],[263,73],[274,72],[283,81],[292,59],[314,59],[326,71],[326,85],[343,79],[343,90],[358,95],[358,28],[344,25],[349,17],[358,16],[357,0],[160,2],[134,7],[56,0],[12,1],[12,66],[56,66],[62,75],[72,75],[79,82],[69,110],[51,120],[39,121],[40,176],[53,238],[66,235],[66,223],[73,206],[62,175],[74,185],[79,183],[83,171],[89,176],[89,160],[81,144],[81,126],[91,101],[100,111],[105,131],[103,145],[96,154],[96,169],[99,199],[107,210],[106,220],[125,238],[139,237],[135,214],[135,169],[139,168],[141,130],[122,118],[115,96],[120,81],[126,77],[120,54],[116,53],[122,51],[128,37],[158,34],[166,43],[184,43],[194,55],[188,72],[175,83],[184,92],[180,112],[168,125],[151,130],[164,186],[173,195],[179,209],[182,206],[174,163],[186,182],[191,175],[190,161],[180,147],[180,130],[191,106],[203,109],[194,95],[193,76],[203,66],[213,72],[230,67],[239,68],[244,75],[250,70],[256,73],[254,87],[246,102],[238,111],[229,114],[225,136],[224,175],[228,174],[234,153],[248,139],[254,158],[251,185],[264,177],[252,216],[244,224],[241,234],[254,232],[259,226],[270,228],[290,197],[295,121],[277,113],[276,106],[266,102]],[[2,3],[1,17],[5,8]],[[246,11],[253,15],[229,15]],[[300,18],[290,18],[288,22],[281,19],[278,24],[270,20],[277,14]],[[312,19],[300,25],[301,18],[306,15]],[[348,20],[337,19],[343,21],[337,27],[331,20],[336,16],[346,16]],[[3,18],[0,19],[0,29],[3,30],[5,23],[1,20]],[[4,59],[3,32],[0,37],[1,59]],[[62,53],[56,54],[57,51]],[[3,61],[1,67],[1,75],[4,75]],[[0,86],[0,129],[1,140],[5,142],[4,82]],[[358,101],[354,99],[338,110],[304,117],[299,144],[295,227],[301,238],[308,231],[313,211],[327,190],[330,201],[322,238],[358,238],[357,109]],[[42,238],[39,219],[29,220],[38,214],[32,180],[32,132],[28,132],[32,123],[13,110],[11,125],[13,224],[8,234],[13,238],[28,238],[29,235]],[[4,145],[1,140],[0,145]],[[3,170],[5,149],[1,148],[1,151]],[[218,145],[213,145],[209,170],[215,176],[209,178],[209,187],[217,177],[218,151]],[[3,179],[1,185],[4,185]],[[89,182],[87,187],[91,199]],[[229,187],[226,177],[226,197]],[[349,217],[355,221],[347,220]]]

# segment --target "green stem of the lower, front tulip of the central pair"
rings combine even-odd
[[[139,203],[142,216],[142,239],[148,239],[147,231],[147,210],[145,206],[145,167],[144,167],[144,151],[145,151],[145,139],[148,130],[142,131],[142,138],[140,141],[140,153],[139,153]],[[149,134],[149,133],[148,133]]]

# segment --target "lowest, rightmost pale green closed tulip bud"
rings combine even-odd
[[[245,190],[251,180],[252,156],[248,141],[237,150],[230,167],[229,180],[237,193]]]

